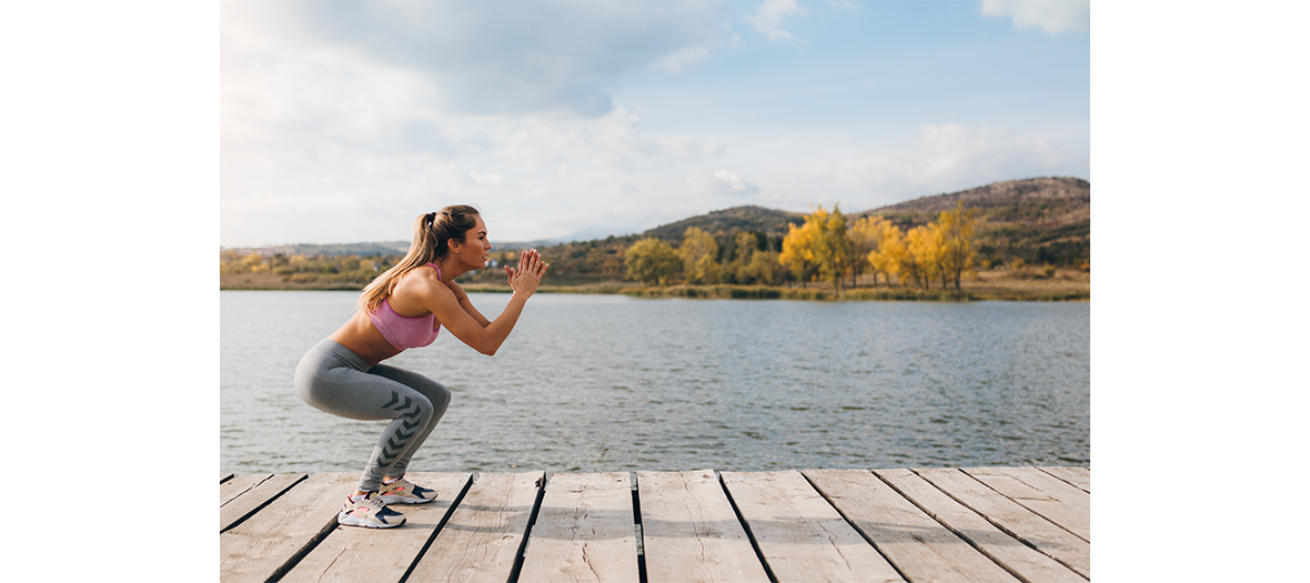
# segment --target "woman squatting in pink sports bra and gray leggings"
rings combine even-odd
[[[296,394],[307,404],[350,419],[392,419],[377,438],[355,494],[337,515],[339,524],[398,527],[405,515],[388,504],[435,499],[432,490],[405,480],[405,469],[445,413],[451,392],[422,375],[379,363],[431,345],[441,326],[478,352],[495,354],[549,265],[533,249],[523,252],[517,269],[506,266],[514,295],[500,317],[489,321],[455,278],[486,267],[490,250],[486,224],[473,207],[451,206],[419,216],[405,258],[364,288],[350,321],[300,359]]]

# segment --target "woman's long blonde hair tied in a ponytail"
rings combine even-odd
[[[358,307],[373,312],[383,300],[396,291],[401,278],[415,267],[434,263],[451,253],[451,240],[464,241],[465,233],[478,225],[478,210],[468,204],[452,204],[436,212],[419,215],[414,219],[414,242],[405,258],[383,271],[372,283],[364,287]]]

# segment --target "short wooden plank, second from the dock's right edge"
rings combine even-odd
[[[1019,506],[1091,542],[1091,494],[1036,468],[965,468],[964,472],[1018,502]],[[998,483],[1003,485],[997,487]],[[1036,494],[1013,497],[1003,490],[1015,489],[1015,485]]]

